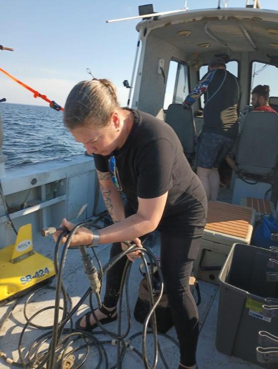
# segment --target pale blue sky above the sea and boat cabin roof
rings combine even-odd
[[[64,106],[79,81],[110,79],[121,105],[126,105],[140,20],[107,24],[106,20],[138,15],[143,0],[0,0],[0,68],[34,90]],[[223,4],[224,1],[221,0]],[[228,7],[244,7],[245,0],[229,0]],[[253,3],[252,0],[249,3]],[[260,0],[263,9],[278,10],[277,0]],[[155,12],[183,9],[184,0],[152,1]],[[188,0],[189,10],[216,8],[218,0]],[[0,73],[0,99],[7,102],[47,105]]]

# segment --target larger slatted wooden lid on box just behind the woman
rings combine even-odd
[[[251,209],[209,201],[205,229],[246,239],[251,217]]]

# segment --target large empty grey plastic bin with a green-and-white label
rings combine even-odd
[[[259,247],[234,244],[220,271],[219,308],[216,347],[220,352],[234,355],[267,368],[256,360],[258,331],[278,334],[278,318],[265,318],[261,306],[265,298],[278,298],[278,282],[268,282],[266,272],[269,258],[278,253]]]

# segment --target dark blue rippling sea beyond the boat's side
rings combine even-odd
[[[63,112],[49,106],[0,103],[3,121],[3,153],[6,167],[32,164],[82,154],[63,124]]]

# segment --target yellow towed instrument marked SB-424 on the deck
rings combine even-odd
[[[33,250],[32,225],[22,226],[16,242],[0,250],[0,305],[54,275],[53,261]]]

